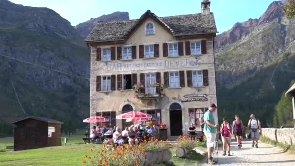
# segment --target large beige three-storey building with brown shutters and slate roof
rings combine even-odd
[[[201,6],[198,14],[158,17],[148,10],[139,19],[98,22],[85,40],[91,48],[90,116],[125,127],[115,116],[136,110],[166,124],[168,137],[186,134],[217,102],[217,30],[210,1]]]

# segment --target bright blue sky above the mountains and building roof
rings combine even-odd
[[[200,0],[10,0],[17,4],[48,7],[75,26],[90,18],[115,11],[129,12],[131,19],[139,18],[148,9],[159,17],[201,12]],[[219,33],[234,23],[259,18],[274,0],[211,0]]]

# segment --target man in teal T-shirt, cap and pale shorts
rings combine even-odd
[[[205,121],[203,132],[206,136],[207,142],[208,164],[215,164],[215,162],[213,162],[212,152],[214,147],[214,141],[216,139],[216,129],[218,128],[218,124],[215,124],[215,119],[213,116],[213,113],[216,110],[216,105],[211,103],[209,105],[208,111],[206,111],[203,116]]]

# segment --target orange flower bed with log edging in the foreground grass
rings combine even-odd
[[[171,159],[170,148],[166,141],[152,137],[138,146],[124,144],[109,149],[90,148],[90,153],[84,155],[82,162],[95,166],[153,166]]]

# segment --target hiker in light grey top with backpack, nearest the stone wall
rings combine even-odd
[[[260,125],[260,121],[258,119],[255,118],[254,114],[250,115],[250,120],[247,126],[247,131],[250,128],[250,134],[251,134],[251,139],[252,139],[252,147],[258,148],[258,140],[260,137],[260,133],[261,133],[261,125]]]

